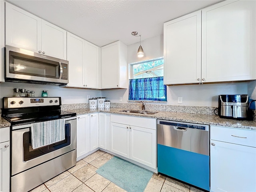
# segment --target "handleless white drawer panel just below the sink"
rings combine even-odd
[[[153,118],[111,114],[110,121],[115,123],[133,125],[156,130],[156,119]]]

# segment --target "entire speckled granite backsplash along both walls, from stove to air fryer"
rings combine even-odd
[[[136,109],[136,110],[142,109],[142,103],[110,103],[110,106],[112,108]],[[73,110],[73,109],[82,109],[82,108],[89,108],[89,104],[88,103],[63,104],[61,106],[62,110]],[[216,107],[146,104],[145,110],[214,115],[213,110],[215,108]]]

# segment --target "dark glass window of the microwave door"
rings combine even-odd
[[[9,72],[13,74],[59,78],[59,63],[33,56],[9,52]]]

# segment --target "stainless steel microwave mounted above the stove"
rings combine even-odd
[[[5,50],[7,82],[68,83],[68,61],[9,45]]]

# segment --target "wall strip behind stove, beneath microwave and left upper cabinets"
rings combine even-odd
[[[13,96],[14,88],[22,88],[29,91],[34,91],[35,96],[39,97],[42,94],[42,90],[48,90],[50,96],[61,97],[62,104],[72,103],[88,103],[87,95],[90,97],[101,96],[101,90],[88,90],[82,88],[63,88],[56,85],[40,85],[40,84],[28,84],[28,83],[12,83],[4,82],[0,84],[1,92],[0,98]],[[2,106],[2,103],[1,103]]]

